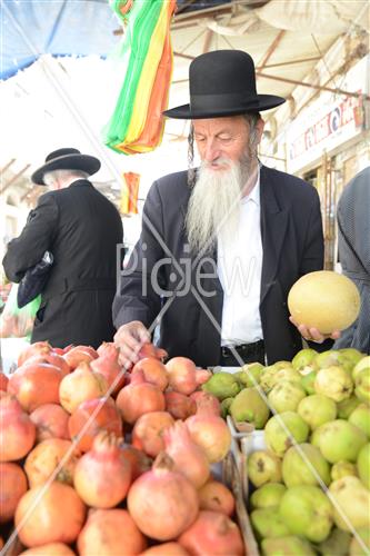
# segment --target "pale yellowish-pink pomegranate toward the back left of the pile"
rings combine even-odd
[[[100,373],[92,371],[89,364],[81,363],[60,383],[60,404],[72,414],[82,401],[104,396],[107,391],[107,379]]]

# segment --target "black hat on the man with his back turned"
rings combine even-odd
[[[53,170],[82,170],[92,176],[99,168],[100,160],[96,157],[81,155],[77,149],[58,149],[47,156],[44,165],[32,173],[31,180],[38,186],[44,186],[44,175]]]

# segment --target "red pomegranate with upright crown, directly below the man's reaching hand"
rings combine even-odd
[[[117,396],[123,420],[133,425],[141,415],[150,411],[164,410],[164,396],[162,391],[144,381],[142,371],[137,371],[128,386],[121,389]]]

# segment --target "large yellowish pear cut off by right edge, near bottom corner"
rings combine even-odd
[[[337,527],[343,530],[370,527],[370,492],[358,477],[343,477],[331,483],[329,494]]]

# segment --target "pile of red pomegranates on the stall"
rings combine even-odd
[[[6,550],[17,539],[26,555],[246,554],[217,467],[231,433],[201,389],[212,374],[164,355],[148,344],[129,370],[111,342],[19,355],[0,391]]]

